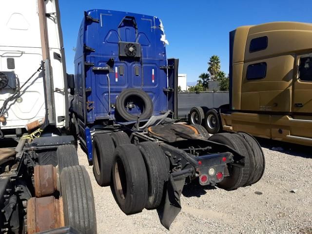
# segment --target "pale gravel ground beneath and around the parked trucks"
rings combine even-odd
[[[155,210],[129,216],[122,213],[110,187],[98,186],[79,147],[79,162],[86,166],[93,185],[98,233],[312,234],[312,148],[282,144],[285,150],[279,152],[271,150],[279,142],[261,144],[266,169],[258,183],[231,192],[202,187],[198,182],[185,186],[182,211],[170,231],[160,224]],[[296,193],[290,192],[293,189]]]

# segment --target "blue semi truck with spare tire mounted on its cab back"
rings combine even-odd
[[[258,142],[245,133],[209,136],[177,122],[178,59],[166,58],[157,17],[90,10],[78,31],[70,123],[100,186],[111,186],[125,214],[157,209],[169,229],[183,186],[226,190],[264,172]]]

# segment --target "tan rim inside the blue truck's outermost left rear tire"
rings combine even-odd
[[[127,179],[125,169],[120,159],[117,159],[115,163],[115,184],[117,195],[124,200],[127,196]]]

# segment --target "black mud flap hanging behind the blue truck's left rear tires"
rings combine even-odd
[[[172,222],[175,220],[176,215],[181,211],[180,197],[184,182],[185,177],[174,180],[172,175],[170,175],[167,183],[165,200],[162,205],[157,208],[160,222],[168,230]]]

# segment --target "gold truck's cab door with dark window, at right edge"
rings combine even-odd
[[[292,112],[312,113],[312,53],[297,56],[293,80]]]

